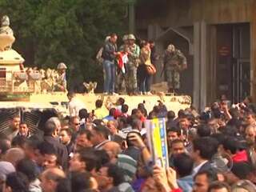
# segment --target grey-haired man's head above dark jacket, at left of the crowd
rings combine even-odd
[[[59,131],[61,130],[61,122],[58,118],[49,118],[44,126],[43,132],[45,136],[51,136],[54,138],[58,137]]]

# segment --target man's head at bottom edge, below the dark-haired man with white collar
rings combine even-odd
[[[218,181],[213,170],[202,170],[194,176],[193,192],[207,192],[211,182]]]

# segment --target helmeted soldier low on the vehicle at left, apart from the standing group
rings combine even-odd
[[[58,78],[56,80],[56,85],[54,86],[54,91],[66,91],[66,64],[64,62],[58,63]]]

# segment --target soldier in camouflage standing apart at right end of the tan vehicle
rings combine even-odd
[[[186,69],[186,57],[182,52],[170,44],[164,55],[164,68],[170,93],[177,93],[180,89],[180,72]]]

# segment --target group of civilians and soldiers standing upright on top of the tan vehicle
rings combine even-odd
[[[103,64],[104,94],[121,93],[125,83],[129,95],[151,95],[151,78],[157,72],[156,54],[153,41],[140,41],[136,44],[134,34],[126,34],[122,38],[122,46],[117,46],[118,35],[110,34],[97,58]],[[171,93],[180,88],[179,73],[186,69],[186,57],[170,44],[163,56],[163,72],[165,72],[168,88]],[[118,92],[118,93],[116,93]]]

